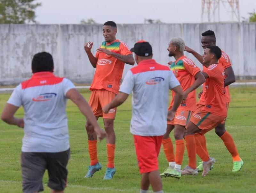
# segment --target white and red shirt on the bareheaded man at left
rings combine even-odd
[[[75,88],[51,72],[37,72],[12,92],[9,104],[24,108],[22,152],[62,152],[69,148],[66,93]]]

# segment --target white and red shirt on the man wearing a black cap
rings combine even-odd
[[[168,93],[180,85],[168,66],[143,60],[124,77],[120,92],[132,92],[130,132],[140,136],[160,136],[166,132]]]

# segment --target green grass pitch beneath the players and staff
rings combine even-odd
[[[244,166],[241,171],[232,173],[233,162],[222,140],[211,131],[206,134],[210,155],[216,158],[214,169],[206,177],[183,176],[181,179],[164,178],[164,192],[248,192],[256,190],[255,176],[255,125],[256,125],[256,87],[231,88],[232,102],[228,110],[226,129],[233,136]],[[81,91],[88,100],[90,92]],[[0,94],[0,111],[10,94]],[[90,163],[87,150],[87,135],[84,129],[85,119],[78,108],[70,101],[67,105],[68,126],[71,145],[71,159],[68,163],[68,187],[65,192],[139,192],[140,174],[137,166],[132,134],[129,132],[131,119],[131,97],[118,108],[115,120],[116,131],[116,174],[113,180],[103,181],[107,155],[106,140],[98,143],[98,158],[103,169],[90,179],[85,179]],[[22,117],[23,109],[16,113]],[[101,126],[102,119],[99,120]],[[0,121],[0,192],[21,192],[20,148],[22,129]],[[172,141],[173,134],[171,134]],[[188,158],[185,153],[183,166]],[[163,149],[159,154],[159,169],[162,172],[168,163]],[[47,172],[44,175],[45,192]]]

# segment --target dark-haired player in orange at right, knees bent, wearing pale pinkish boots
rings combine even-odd
[[[225,94],[225,73],[222,65],[218,63],[221,57],[221,50],[218,46],[207,46],[204,49],[203,63],[206,68],[202,74],[206,78],[203,108],[196,110],[190,118],[185,132],[186,147],[188,151],[188,166],[182,170],[182,175],[194,175],[196,169],[196,139],[195,133],[203,130],[211,130],[219,125],[227,116]],[[203,162],[203,174],[207,175],[215,159],[207,157]]]

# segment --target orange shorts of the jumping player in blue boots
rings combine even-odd
[[[116,108],[110,109],[108,111],[108,114],[102,112],[102,108],[106,106],[108,103],[110,103],[115,97],[115,93],[105,89],[92,90],[92,94],[89,99],[89,105],[91,106],[92,112],[95,115],[95,117],[115,119]]]

